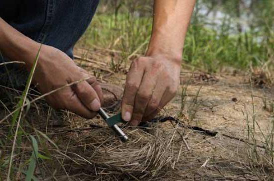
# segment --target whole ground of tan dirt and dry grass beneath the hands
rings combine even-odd
[[[78,48],[75,54],[77,64],[91,72],[96,70],[99,81],[123,87],[129,64],[112,63],[118,59],[119,52]],[[61,151],[52,148],[52,152],[53,157],[62,163],[43,163],[45,172],[52,175],[43,178],[76,181],[272,181],[273,150],[271,154],[268,150],[273,144],[270,136],[274,119],[273,90],[252,86],[248,75],[235,74],[234,71],[208,75],[184,69],[178,94],[161,115],[173,116],[183,125],[218,134],[203,135],[166,121],[154,125],[155,129],[148,133],[126,129],[132,140],[126,145],[111,137],[108,128],[88,129],[91,124],[105,126],[99,117],[84,120],[67,113],[65,126],[54,128],[52,122],[56,120],[47,120],[47,113],[41,111],[39,115],[30,116],[30,120],[38,120],[35,127],[59,146]],[[151,149],[155,152],[152,153]],[[154,162],[152,159],[148,162],[149,157]],[[56,164],[60,168],[56,168]],[[43,174],[37,171],[36,175],[39,178]]]

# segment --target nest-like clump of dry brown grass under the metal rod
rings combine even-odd
[[[70,175],[85,173],[94,180],[167,179],[182,153],[178,145],[183,140],[177,133],[182,129],[127,128],[130,141],[126,144],[106,127],[73,132],[67,137],[71,141],[64,153],[65,170],[73,170]]]

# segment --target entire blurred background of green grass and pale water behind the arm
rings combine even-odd
[[[81,43],[130,55],[150,35],[152,6],[152,0],[102,0]],[[272,62],[273,7],[273,0],[197,0],[184,61],[208,72]],[[145,49],[138,53],[145,53]]]

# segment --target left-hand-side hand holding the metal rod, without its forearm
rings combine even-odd
[[[33,58],[33,54],[30,57]],[[42,45],[33,77],[41,93],[86,78],[89,79],[47,95],[46,100],[53,108],[66,109],[82,117],[93,118],[101,107],[103,94],[94,76],[75,65],[62,51]]]

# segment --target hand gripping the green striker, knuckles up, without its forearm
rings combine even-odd
[[[180,61],[162,55],[139,57],[127,75],[122,117],[137,126],[152,119],[176,94],[180,84]]]

